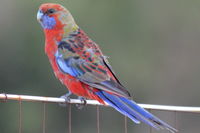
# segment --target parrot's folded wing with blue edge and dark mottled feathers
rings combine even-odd
[[[59,44],[55,57],[57,65],[63,73],[70,74],[81,82],[100,90],[130,98],[129,92],[111,78],[109,75],[110,68],[102,58],[95,56],[95,59],[88,60],[90,57],[80,56],[80,53],[77,54],[67,42]]]

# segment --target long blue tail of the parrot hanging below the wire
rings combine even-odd
[[[156,129],[167,129],[172,133],[177,132],[175,128],[155,117],[153,114],[149,113],[147,110],[143,109],[132,100],[111,95],[104,91],[96,92],[96,94],[110,106],[125,116],[129,117],[137,124],[139,124],[141,121]]]

